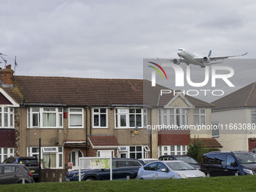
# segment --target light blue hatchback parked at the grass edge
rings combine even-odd
[[[206,175],[182,160],[155,161],[139,169],[137,179],[195,178]]]

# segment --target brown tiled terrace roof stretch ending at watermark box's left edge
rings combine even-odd
[[[14,80],[27,103],[142,104],[141,80],[31,76],[15,76]]]

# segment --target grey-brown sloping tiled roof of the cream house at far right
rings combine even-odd
[[[227,108],[241,108],[241,107],[256,107],[256,82],[242,87],[221,99],[212,102],[215,105],[215,110]]]

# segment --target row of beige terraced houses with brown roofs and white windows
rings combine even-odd
[[[239,90],[242,96],[232,93],[209,104],[181,93],[159,96],[163,87],[137,79],[18,76],[6,66],[0,70],[0,81],[1,161],[38,156],[39,139],[42,166],[59,170],[68,169],[68,163],[77,169],[79,157],[97,157],[105,151],[122,158],[186,154],[195,136],[209,148],[251,150],[256,145],[254,133],[154,129],[256,121],[254,84]]]

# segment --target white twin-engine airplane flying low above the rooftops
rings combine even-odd
[[[170,61],[173,62],[174,64],[179,65],[181,62],[184,62],[187,64],[187,66],[189,64],[193,64],[196,66],[201,66],[201,68],[206,67],[206,66],[210,66],[212,64],[218,64],[218,63],[222,63],[222,62],[216,62],[217,60],[220,59],[227,59],[229,57],[234,57],[234,56],[244,56],[246,55],[248,52],[241,54],[241,55],[232,55],[232,56],[212,56],[212,50],[209,51],[208,56],[198,56],[197,54],[186,50],[184,48],[180,48],[178,49],[178,56],[180,57],[180,59],[160,59],[161,61]]]

